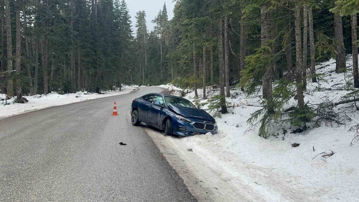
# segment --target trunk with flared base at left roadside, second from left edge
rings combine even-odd
[[[21,73],[21,28],[20,28],[20,0],[17,0],[16,8],[16,57],[15,57],[15,69],[17,74],[16,79],[16,96],[18,103],[24,103],[22,98],[21,79],[19,78]]]

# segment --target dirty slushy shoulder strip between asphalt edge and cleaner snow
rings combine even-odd
[[[211,162],[202,159],[196,151],[187,151],[185,145],[180,142],[179,137],[163,136],[151,128],[146,128],[146,132],[151,137],[160,152],[167,159],[169,164],[175,169],[183,179],[188,190],[198,201],[252,201],[255,193],[250,190],[247,193],[239,193],[230,179],[221,178],[220,169],[214,169],[213,166],[206,165]],[[246,196],[246,197],[244,197]],[[257,201],[262,201],[256,198]]]

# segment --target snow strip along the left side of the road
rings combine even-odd
[[[136,89],[137,88],[135,87],[123,86],[121,91],[118,89],[114,91],[102,91],[103,94],[79,91],[76,93],[60,95],[59,93],[53,92],[47,95],[24,96],[27,100],[29,100],[25,104],[15,103],[14,97],[7,101],[8,103],[10,103],[10,105],[5,105],[5,100],[0,101],[0,119],[3,119],[8,116],[23,114],[29,111],[45,109],[48,107],[59,105],[66,105],[73,102],[81,102],[84,100],[122,95],[130,93],[132,91],[136,91]],[[0,99],[3,98],[5,98],[5,94],[0,94]]]

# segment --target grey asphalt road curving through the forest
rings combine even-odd
[[[144,127],[130,122],[132,100],[160,91],[0,120],[0,201],[196,201]]]

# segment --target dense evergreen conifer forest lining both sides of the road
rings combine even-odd
[[[297,107],[288,121],[314,116],[304,97],[323,82],[318,62],[336,59],[335,73],[352,70],[359,88],[357,0],[176,0],[146,27],[146,12],[131,22],[125,0],[3,0],[0,6],[0,90],[7,98],[173,83],[197,89],[218,85],[212,101],[227,112],[230,87],[261,91],[260,136]],[[136,32],[133,28],[136,27]],[[346,66],[347,55],[353,66]],[[251,119],[248,120],[252,122]]]

